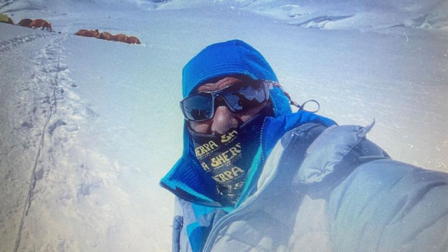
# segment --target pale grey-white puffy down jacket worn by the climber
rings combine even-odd
[[[287,132],[233,210],[177,198],[173,250],[447,251],[447,174],[390,159],[372,126]]]

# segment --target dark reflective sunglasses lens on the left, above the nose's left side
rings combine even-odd
[[[182,102],[185,117],[191,121],[209,119],[213,113],[211,94],[198,94]]]

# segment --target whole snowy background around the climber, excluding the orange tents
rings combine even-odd
[[[242,39],[297,102],[448,171],[447,1],[0,0],[0,251],[169,251],[181,69]],[[74,36],[99,29],[129,45]]]

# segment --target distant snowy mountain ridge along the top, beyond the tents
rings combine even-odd
[[[411,27],[448,31],[448,0],[0,0],[0,13],[29,9],[82,11],[82,6],[122,6],[123,10],[221,9],[247,11],[288,24],[329,30],[378,31]],[[112,8],[112,7],[111,7]]]

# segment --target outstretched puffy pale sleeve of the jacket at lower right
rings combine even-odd
[[[391,159],[366,162],[329,198],[336,251],[447,251],[448,177]]]

